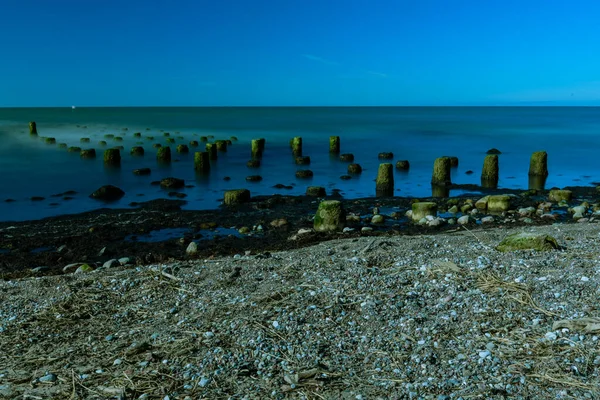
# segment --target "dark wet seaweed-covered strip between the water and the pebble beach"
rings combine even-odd
[[[573,200],[569,205],[588,202],[590,208],[586,216],[594,222],[591,205],[596,202],[596,188],[571,189]],[[540,204],[547,202],[548,191],[491,190],[489,193],[510,193],[510,211],[504,215],[473,214],[472,222],[466,225],[469,230],[574,222],[568,207],[558,204],[546,205],[549,208],[544,212],[552,214],[551,218],[535,212],[519,214],[519,210],[527,207],[537,210]],[[185,201],[162,199],[140,203],[136,209],[99,209],[34,221],[0,222],[0,276],[14,279],[62,274],[70,271],[65,267],[72,264],[98,268],[109,260],[121,258],[128,258],[127,264],[134,266],[282,251],[336,238],[437,234],[462,229],[459,225],[448,224],[450,219],[456,222],[462,213],[451,215],[448,209],[466,202],[474,204],[482,197],[421,199],[436,202],[438,214],[444,218],[440,226],[429,227],[409,222],[405,217],[413,198],[343,199],[328,196],[325,199],[340,200],[346,212],[353,215],[347,223],[349,229],[335,233],[312,231],[312,217],[320,198],[283,195],[256,196],[250,203],[214,210],[181,210]],[[384,217],[383,224],[371,223],[374,208]],[[486,216],[491,218],[482,222]],[[242,228],[247,231],[240,233]],[[298,235],[301,230],[304,233]],[[186,248],[192,241],[197,243],[198,250],[190,257]]]

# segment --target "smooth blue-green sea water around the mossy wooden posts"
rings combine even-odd
[[[28,123],[36,121],[39,137],[29,135]],[[126,129],[126,130],[125,130]],[[141,132],[142,138],[133,137]],[[199,136],[214,139],[236,136],[226,153],[220,152],[208,176],[196,175],[194,151],[177,154],[171,144],[173,162],[159,166],[153,143],[166,143],[164,132],[188,144]],[[123,142],[104,135],[122,136]],[[329,137],[340,136],[341,152],[353,153],[363,167],[362,175],[341,180],[347,164],[331,157]],[[146,136],[153,136],[149,140]],[[301,136],[304,155],[311,165],[294,163],[289,140]],[[95,148],[95,160],[80,159],[57,143]],[[90,138],[89,144],[80,138]],[[266,139],[262,165],[249,169],[250,142]],[[106,140],[107,146],[99,141]],[[134,157],[131,147],[142,142],[146,154]],[[120,169],[105,168],[104,148],[123,145]],[[143,108],[4,108],[0,109],[0,221],[29,220],[78,213],[102,207],[127,208],[131,202],[168,198],[168,191],[153,186],[165,177],[185,179],[186,209],[212,209],[220,205],[223,192],[248,188],[253,195],[304,194],[307,186],[324,186],[328,193],[339,189],[345,198],[375,195],[375,177],[380,152],[393,152],[397,160],[409,160],[409,172],[395,172],[395,195],[431,196],[431,171],[435,158],[457,156],[452,181],[479,184],[486,151],[497,148],[500,155],[501,188],[526,189],[531,153],[548,152],[550,175],[546,187],[586,186],[600,181],[600,108],[595,107],[143,107]],[[136,168],[149,167],[149,176],[135,176]],[[297,179],[295,171],[311,169],[314,177]],[[471,175],[466,171],[472,170]],[[247,182],[249,175],[261,182]],[[225,177],[231,179],[226,181]],[[120,187],[126,195],[114,203],[89,198],[102,185]],[[275,189],[275,184],[292,189]],[[53,196],[76,191],[70,200]],[[450,195],[462,192],[451,191]],[[44,200],[32,201],[34,196]],[[6,199],[14,201],[6,202]]]

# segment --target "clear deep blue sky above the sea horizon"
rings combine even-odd
[[[600,105],[597,0],[0,0],[0,106]]]

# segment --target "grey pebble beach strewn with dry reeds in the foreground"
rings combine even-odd
[[[598,225],[0,282],[0,397],[598,398]],[[502,253],[514,231],[562,250]],[[37,396],[37,397],[35,397]]]

